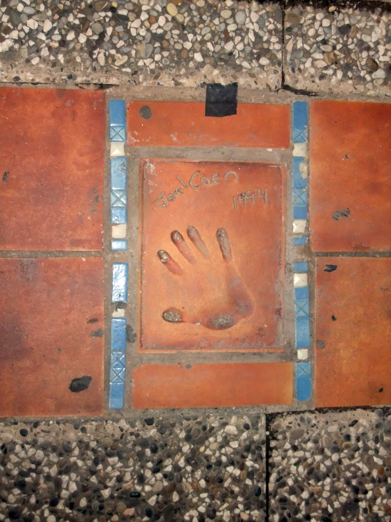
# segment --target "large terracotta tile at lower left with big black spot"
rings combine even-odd
[[[3,258],[0,288],[0,417],[101,414],[103,260]]]

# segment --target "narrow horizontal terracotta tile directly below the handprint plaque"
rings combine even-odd
[[[150,364],[133,372],[135,408],[209,408],[290,404],[289,362]]]

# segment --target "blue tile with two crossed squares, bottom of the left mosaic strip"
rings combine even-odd
[[[112,318],[108,407],[121,409],[125,401],[126,319]]]

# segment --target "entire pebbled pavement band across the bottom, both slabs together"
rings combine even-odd
[[[4,420],[0,520],[391,520],[388,408],[153,413]]]

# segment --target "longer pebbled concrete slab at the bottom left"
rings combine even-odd
[[[0,520],[265,520],[265,418],[0,423]]]

